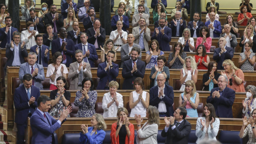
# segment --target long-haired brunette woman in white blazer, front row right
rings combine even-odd
[[[201,140],[216,140],[219,131],[220,119],[215,114],[214,106],[207,103],[204,106],[203,117],[198,117],[196,121],[196,143]]]

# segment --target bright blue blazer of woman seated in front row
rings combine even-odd
[[[88,127],[88,132],[83,134],[83,132],[80,133],[79,142],[81,144],[86,143],[102,143],[102,141],[105,138],[106,132],[104,130],[97,130],[94,134],[91,135],[91,132],[93,130],[93,126]]]

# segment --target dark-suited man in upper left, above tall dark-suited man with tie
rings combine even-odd
[[[60,27],[64,25],[63,16],[57,13],[57,7],[55,4],[51,5],[51,12],[46,13],[44,17],[44,24],[51,24],[53,26],[53,33],[58,33]]]

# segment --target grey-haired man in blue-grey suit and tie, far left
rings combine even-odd
[[[38,87],[39,90],[44,90],[42,81],[44,81],[44,67],[36,63],[37,56],[35,52],[28,53],[28,62],[22,63],[19,69],[20,81],[23,81],[25,74],[31,74],[33,77],[32,85]],[[23,83],[20,83],[22,85]]]

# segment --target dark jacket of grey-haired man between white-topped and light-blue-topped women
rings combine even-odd
[[[158,108],[159,102],[164,101],[166,110],[167,110],[167,115],[173,116],[174,110],[173,110],[172,105],[174,102],[174,92],[173,92],[172,86],[165,84],[164,94],[165,94],[164,98],[159,99],[158,98],[158,85],[153,86],[149,90],[149,95],[150,95],[149,105],[156,106]]]

